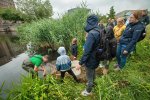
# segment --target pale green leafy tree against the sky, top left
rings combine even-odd
[[[49,0],[16,0],[16,6],[24,13],[24,19],[29,21],[49,18],[53,15]]]

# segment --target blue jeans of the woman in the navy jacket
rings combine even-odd
[[[125,50],[126,47],[127,47],[126,45],[122,45],[122,44],[117,45],[116,58],[117,58],[118,65],[121,69],[125,66],[127,61],[127,55],[123,54],[123,51]]]

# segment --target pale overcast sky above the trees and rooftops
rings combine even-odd
[[[111,6],[114,6],[116,13],[124,10],[150,10],[150,0],[50,0],[53,7],[53,18],[58,18],[71,8],[80,6],[81,2],[86,2],[87,7],[100,14],[109,13]]]

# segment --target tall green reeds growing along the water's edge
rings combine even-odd
[[[68,12],[60,19],[41,19],[26,23],[18,27],[20,43],[31,41],[36,47],[47,46],[56,50],[58,46],[65,46],[68,50],[72,38],[78,39],[83,45],[84,26],[89,11],[82,7]]]

